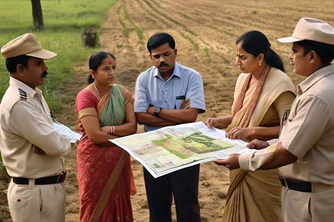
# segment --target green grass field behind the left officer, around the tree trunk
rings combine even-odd
[[[59,86],[71,81],[74,66],[99,49],[85,48],[82,33],[86,28],[99,29],[108,9],[117,0],[41,0],[44,29],[33,29],[31,0],[0,1],[0,47],[24,33],[34,33],[42,47],[58,54],[46,60],[49,68],[46,82],[39,87],[55,113],[62,111],[57,99]],[[87,71],[88,73],[88,71]],[[5,60],[0,56],[0,100],[9,84]],[[0,157],[1,159],[1,157]],[[1,160],[0,160],[1,163]]]

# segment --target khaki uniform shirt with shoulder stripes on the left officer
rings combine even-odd
[[[12,177],[36,179],[62,173],[69,139],[53,129],[42,92],[10,77],[0,103],[0,151]],[[39,147],[45,154],[37,154]]]

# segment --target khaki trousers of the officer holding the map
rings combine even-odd
[[[312,184],[312,193],[283,187],[284,222],[334,222],[334,186]]]

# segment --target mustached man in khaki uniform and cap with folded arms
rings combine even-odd
[[[8,174],[8,205],[13,222],[65,221],[65,159],[70,141],[52,127],[53,115],[42,92],[44,59],[35,35],[19,36],[1,48],[10,73],[0,103],[0,151]]]

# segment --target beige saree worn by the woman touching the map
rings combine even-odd
[[[241,73],[237,80],[232,111],[235,111],[235,107],[238,106],[238,99],[249,75],[251,74]],[[248,86],[242,107],[234,113],[233,121],[227,131],[236,126],[245,127],[243,125],[245,122],[247,122],[246,127],[279,125],[279,115],[282,111],[275,111],[273,105],[278,106],[277,100],[280,97],[279,100],[284,103],[281,106],[282,109],[290,109],[294,94],[296,94],[290,78],[282,71],[272,67],[249,119],[248,107],[252,106],[251,103],[254,106],[252,95],[256,93],[256,90],[256,82]],[[246,172],[242,169],[231,170],[231,184],[223,213],[223,222],[282,222],[280,198],[282,186],[278,177],[277,169],[254,172]]]

